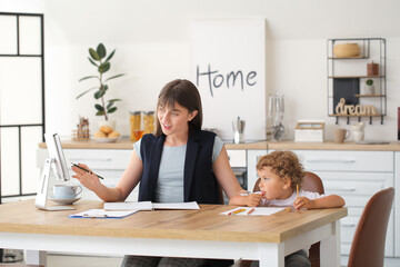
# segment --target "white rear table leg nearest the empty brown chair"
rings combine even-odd
[[[321,266],[340,266],[340,220],[332,222],[333,235],[321,240],[320,261]]]

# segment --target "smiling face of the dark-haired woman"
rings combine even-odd
[[[173,107],[160,105],[157,110],[158,120],[166,136],[188,134],[189,121],[191,121],[197,113],[197,110],[189,112],[187,108],[180,106],[177,101]]]

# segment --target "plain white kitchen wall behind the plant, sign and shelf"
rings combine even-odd
[[[267,92],[286,95],[290,138],[298,119],[322,119],[326,137],[332,139],[337,126],[327,110],[327,39],[381,37],[388,50],[388,116],[383,126],[378,119],[367,126],[366,139],[396,140],[399,10],[398,0],[0,0],[0,11],[44,13],[47,129],[61,135],[70,135],[78,115],[89,117],[96,128],[93,98],[74,99],[90,87],[79,78],[94,73],[87,60],[89,47],[103,42],[117,48],[111,72],[128,76],[110,82],[110,97],[124,100],[113,118],[128,135],[128,111],[154,109],[167,81],[189,78],[190,21],[264,18]],[[348,127],[346,120],[339,125]]]

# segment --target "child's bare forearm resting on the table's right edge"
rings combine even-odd
[[[299,197],[294,200],[294,208],[296,209],[340,208],[343,207],[344,204],[346,204],[344,199],[338,195],[330,195],[313,200],[310,200],[307,197]]]

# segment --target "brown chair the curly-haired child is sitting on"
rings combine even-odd
[[[258,180],[256,181],[253,191],[260,191],[259,184],[260,184],[260,178],[258,178]],[[321,195],[324,194],[321,178],[318,175],[310,171],[306,171],[306,176],[303,178],[301,189],[306,191],[314,191]],[[319,267],[320,243],[312,244],[309,251],[310,251],[309,260],[311,263],[311,267]]]

